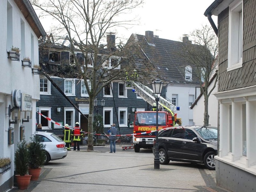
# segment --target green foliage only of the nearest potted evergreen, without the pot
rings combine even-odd
[[[15,170],[18,175],[26,175],[28,172],[28,148],[27,142],[23,139],[17,144],[14,154]]]

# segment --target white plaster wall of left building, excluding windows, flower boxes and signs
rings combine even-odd
[[[12,161],[11,170],[4,173],[0,176],[0,186],[5,183],[7,180],[12,178],[14,173],[14,151],[16,149],[16,145],[19,142],[20,137],[20,125],[22,124],[22,120],[18,120],[17,124],[10,124],[8,116],[8,107],[12,105],[12,92],[15,89],[21,91],[21,93],[25,93],[32,96],[32,106],[33,106],[33,115],[32,119],[29,119],[29,126],[25,126],[25,137],[26,140],[29,140],[31,134],[33,134],[36,130],[36,100],[40,99],[39,94],[39,75],[32,74],[32,69],[29,67],[21,66],[20,61],[14,61],[8,59],[8,51],[10,51],[11,47],[7,47],[7,33],[12,33],[12,44],[14,47],[21,47],[21,20],[25,23],[25,50],[21,50],[24,52],[24,55],[31,58],[31,35],[34,39],[34,58],[31,58],[32,67],[33,64],[38,65],[38,39],[36,34],[24,18],[23,14],[20,12],[17,5],[13,0],[8,0],[8,2],[12,6],[12,31],[7,31],[7,0],[0,1],[0,36],[1,36],[1,44],[0,44],[0,65],[1,65],[1,76],[0,76],[0,157],[10,157]],[[23,55],[23,54],[22,54]],[[14,144],[8,145],[8,128],[14,128]],[[12,181],[13,182],[13,181]]]

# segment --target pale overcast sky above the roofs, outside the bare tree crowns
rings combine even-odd
[[[159,38],[181,41],[184,34],[189,34],[202,25],[210,25],[205,10],[214,0],[144,0],[142,7],[132,10],[131,17],[137,16],[138,25],[128,29],[118,28],[116,37],[128,39],[132,33],[145,35],[153,31]],[[212,16],[217,26],[217,17]],[[45,31],[49,21],[40,19]]]

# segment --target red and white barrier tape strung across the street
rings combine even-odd
[[[39,115],[43,116],[44,118],[46,118],[48,121],[51,121],[52,123],[56,124],[56,125],[59,125],[61,127],[64,127],[64,128],[67,128],[67,129],[70,129],[70,130],[75,130],[75,129],[72,129],[72,128],[69,128],[69,127],[65,127],[61,124],[59,124],[58,122],[56,121],[53,121],[51,118],[47,117],[47,116],[44,116],[42,113],[39,113],[36,111],[36,113],[38,113]],[[177,129],[177,128],[183,128],[183,126],[178,126],[178,127],[167,127],[167,128],[161,128],[159,130],[150,130],[150,131],[146,131],[146,132],[140,132],[140,133],[133,133],[133,134],[127,134],[127,135],[116,135],[118,137],[120,136],[133,136],[133,135],[143,135],[143,134],[147,134],[147,133],[153,133],[153,132],[157,132],[157,131],[160,131],[160,130],[167,130],[167,129]],[[107,134],[99,134],[99,133],[91,133],[91,132],[84,132],[84,131],[80,131],[80,132],[83,132],[85,134],[93,134],[93,135],[103,135],[103,136],[110,136],[110,135],[107,135]]]

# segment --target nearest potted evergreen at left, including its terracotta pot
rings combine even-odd
[[[27,189],[30,183],[31,175],[27,175],[28,172],[28,148],[27,142],[23,139],[17,144],[17,149],[14,154],[14,165],[17,175],[15,175],[18,188]]]

